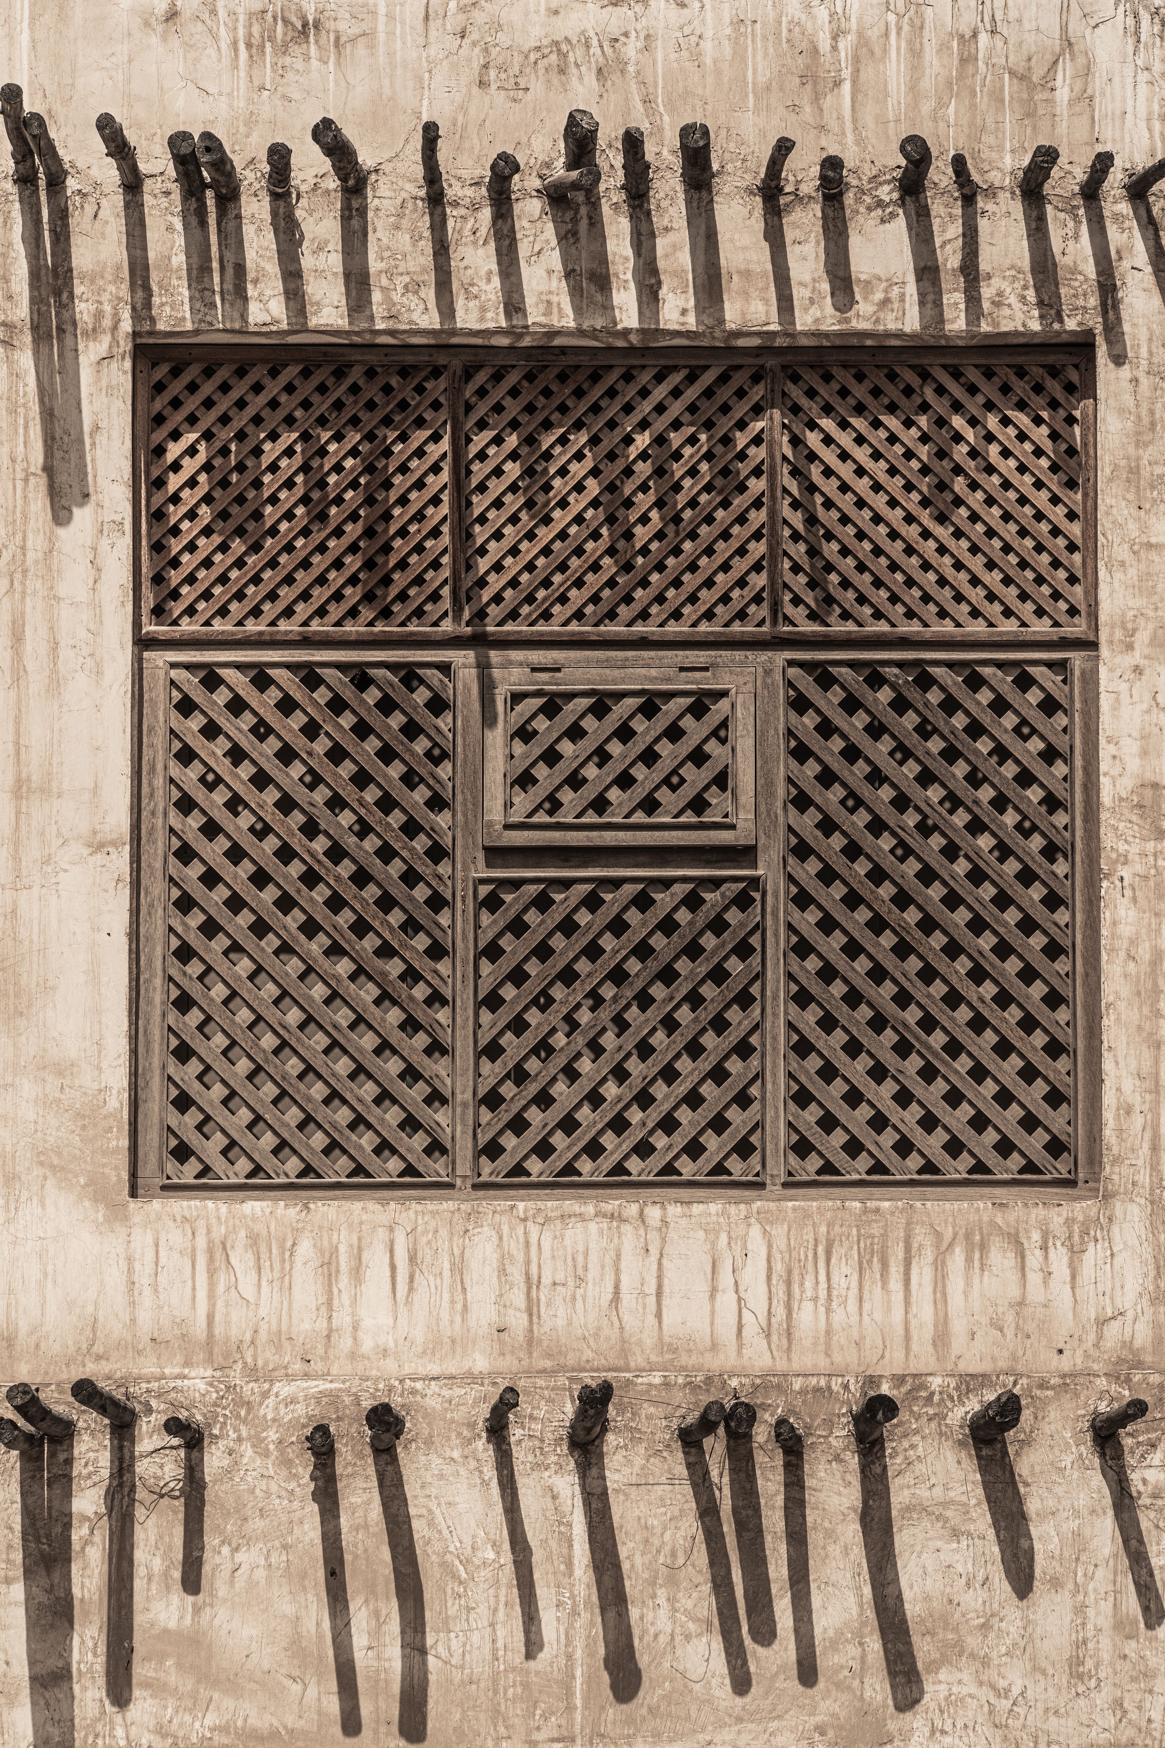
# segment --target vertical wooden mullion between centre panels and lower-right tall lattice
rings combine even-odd
[[[763,905],[765,1183],[784,1176],[784,662],[756,668],[756,869]]]

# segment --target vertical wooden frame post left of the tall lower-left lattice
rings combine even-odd
[[[169,911],[169,666],[141,671],[141,825],[138,839],[138,977],[134,1190],[155,1194],[166,1162],[166,954]]]

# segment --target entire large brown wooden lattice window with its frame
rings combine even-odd
[[[1065,1194],[1079,344],[157,343],[136,1189]]]

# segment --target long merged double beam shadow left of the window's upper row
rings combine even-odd
[[[28,323],[42,467],[52,521],[63,528],[72,523],[73,509],[89,502],[68,198],[65,185],[45,189],[49,208],[45,241],[40,184],[19,182],[16,187],[28,273]]]

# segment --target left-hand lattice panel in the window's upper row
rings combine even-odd
[[[449,617],[445,371],[154,364],[150,622]]]

